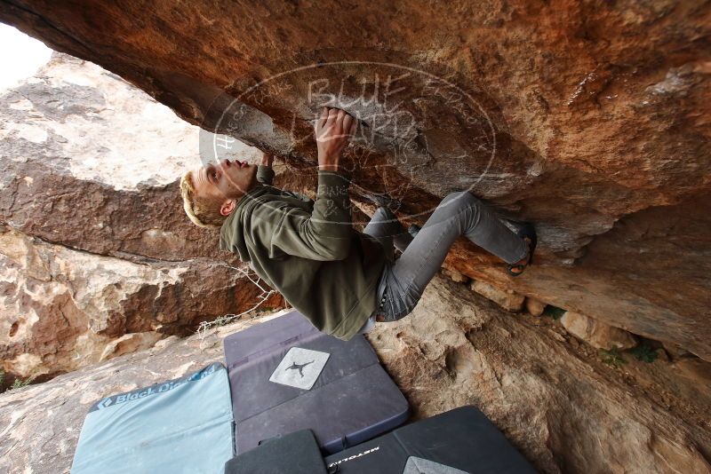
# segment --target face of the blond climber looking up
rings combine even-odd
[[[192,173],[196,194],[220,205],[220,214],[228,216],[236,201],[257,184],[257,165],[238,160],[206,164]]]

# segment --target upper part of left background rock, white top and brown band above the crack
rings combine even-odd
[[[0,96],[0,116],[2,222],[116,257],[230,257],[178,197],[177,178],[200,166],[199,129],[144,92],[55,53]]]

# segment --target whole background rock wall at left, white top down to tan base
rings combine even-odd
[[[4,92],[0,116],[5,383],[140,350],[260,303],[249,268],[182,212],[176,178],[200,163],[196,127],[62,54]]]

